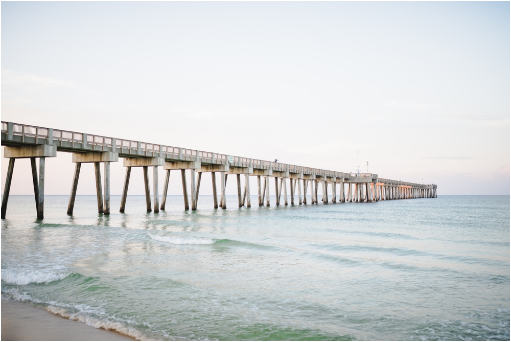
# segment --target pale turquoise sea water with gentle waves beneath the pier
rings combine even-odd
[[[142,339],[509,340],[509,196],[97,214],[11,196],[2,297]]]

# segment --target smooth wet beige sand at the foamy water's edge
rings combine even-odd
[[[134,339],[114,331],[96,329],[28,304],[2,299],[2,340],[132,341]]]

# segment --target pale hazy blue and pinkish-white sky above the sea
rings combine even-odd
[[[2,2],[2,120],[508,195],[509,29],[509,2]]]

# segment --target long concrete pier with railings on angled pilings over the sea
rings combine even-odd
[[[73,153],[75,172],[67,214],[73,214],[76,190],[82,163],[94,163],[98,212],[110,214],[110,163],[124,158],[126,167],[124,187],[119,211],[124,213],[131,168],[142,167],[144,173],[147,211],[165,210],[169,177],[172,170],[181,174],[184,209],[197,209],[201,177],[211,172],[214,208],[226,209],[225,185],[229,175],[236,176],[238,186],[238,206],[251,207],[249,177],[257,177],[258,205],[270,206],[270,178],[274,178],[276,206],[307,204],[307,194],[311,203],[318,203],[318,190],[321,186],[323,203],[373,202],[391,199],[435,198],[436,185],[407,183],[401,180],[379,178],[374,173],[344,173],[305,166],[297,166],[263,161],[241,156],[205,152],[134,140],[116,139],[101,135],[72,132],[61,129],[36,127],[2,121],[2,146],[4,157],[9,158],[7,177],[2,198],[2,218],[6,217],[7,202],[11,187],[14,163],[17,158],[30,158],[37,218],[44,217],[44,161],[56,157],[57,151]],[[37,161],[39,172],[37,171]],[[103,163],[103,183],[101,177]],[[149,167],[153,171],[153,203],[149,184]],[[161,204],[159,203],[158,169],[165,170]],[[190,186],[185,172],[190,172]],[[219,173],[220,198],[217,195],[217,173]],[[244,186],[242,186],[242,176]],[[230,178],[229,178],[230,179]],[[290,198],[288,198],[288,187]],[[188,191],[190,189],[190,196]],[[329,198],[330,192],[330,198]]]

